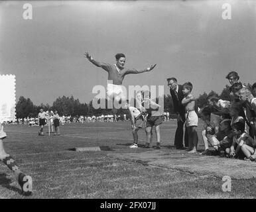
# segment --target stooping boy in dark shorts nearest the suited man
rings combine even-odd
[[[160,125],[162,124],[162,116],[159,111],[159,104],[155,103],[151,99],[151,93],[149,91],[145,91],[143,93],[143,106],[147,113],[147,122],[146,122],[146,134],[147,134],[147,141],[145,148],[150,147],[152,130],[155,126],[155,131],[157,134],[157,149],[160,149]]]

